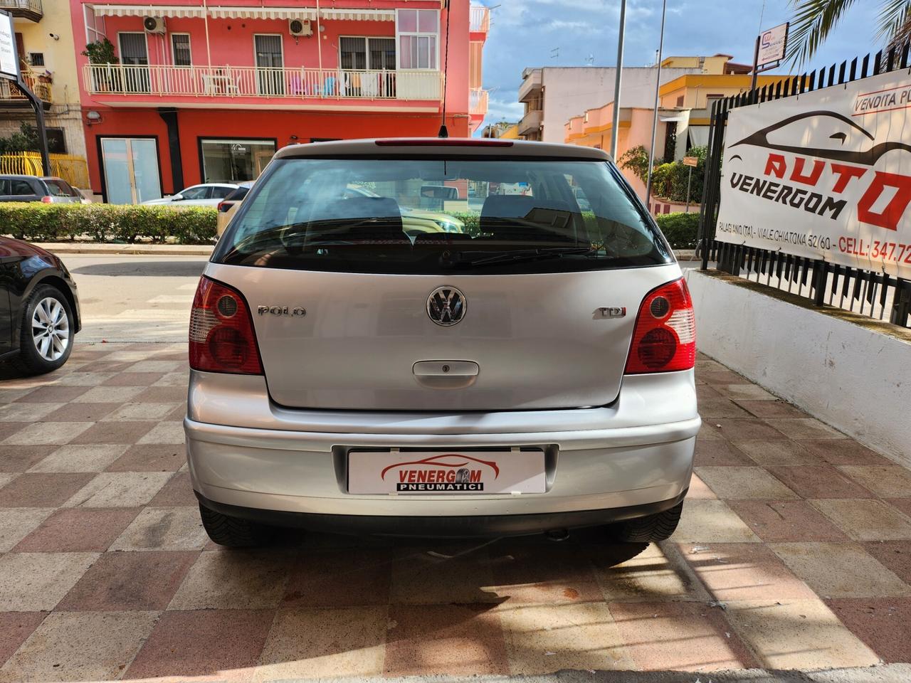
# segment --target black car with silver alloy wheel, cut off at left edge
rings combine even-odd
[[[67,362],[80,327],[76,282],[63,261],[0,237],[0,359],[51,372]]]

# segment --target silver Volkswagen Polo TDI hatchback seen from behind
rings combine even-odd
[[[203,524],[222,545],[275,525],[666,538],[695,353],[681,269],[599,149],[281,149],[193,302]]]

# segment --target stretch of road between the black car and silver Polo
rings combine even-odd
[[[76,279],[79,342],[185,342],[199,256],[61,257]]]

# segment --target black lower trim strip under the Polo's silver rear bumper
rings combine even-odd
[[[226,505],[206,498],[199,492],[200,504],[222,515],[249,519],[264,525],[289,526],[334,534],[466,538],[477,536],[538,534],[551,529],[575,529],[606,525],[668,510],[681,503],[686,490],[670,500],[643,505],[615,507],[609,510],[577,510],[536,515],[322,515],[320,513],[261,510],[239,505]]]

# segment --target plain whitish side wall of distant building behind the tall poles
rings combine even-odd
[[[544,87],[544,142],[563,142],[564,126],[586,109],[603,107],[614,100],[614,77],[617,69],[604,66],[545,66],[541,84]],[[684,76],[700,74],[698,68],[663,68],[661,83]],[[658,69],[651,66],[627,66],[620,82],[620,107],[654,107],[655,80]]]

